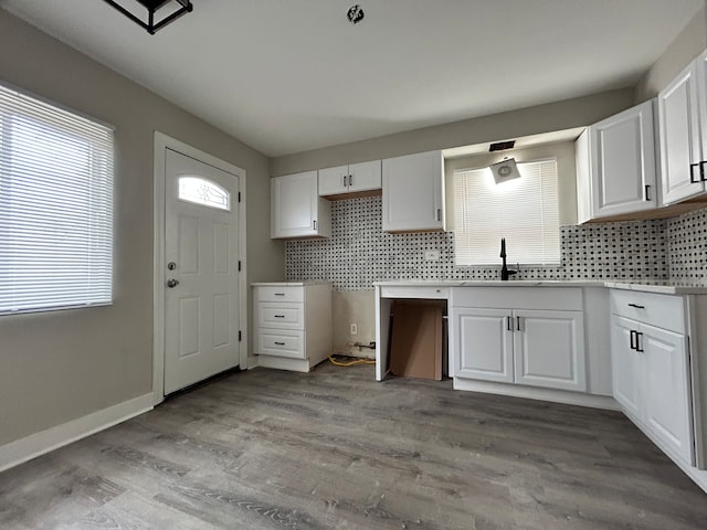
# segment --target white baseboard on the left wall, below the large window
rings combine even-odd
[[[0,446],[0,471],[151,411],[154,399],[150,392]]]

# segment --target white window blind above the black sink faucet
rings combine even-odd
[[[456,265],[560,263],[557,162],[518,163],[521,178],[500,184],[488,168],[454,172]]]

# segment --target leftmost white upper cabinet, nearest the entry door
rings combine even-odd
[[[331,205],[317,193],[317,172],[271,179],[271,237],[329,237]]]

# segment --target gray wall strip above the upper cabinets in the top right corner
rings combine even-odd
[[[707,2],[663,52],[635,87],[635,103],[656,96],[687,64],[707,49]]]

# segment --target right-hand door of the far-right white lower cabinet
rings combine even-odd
[[[639,350],[645,364],[645,423],[672,453],[694,464],[687,338],[642,325]]]

